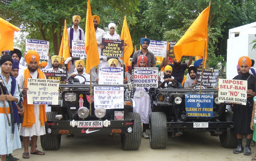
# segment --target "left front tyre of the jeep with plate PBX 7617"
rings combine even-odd
[[[150,147],[163,149],[167,145],[168,131],[166,115],[163,112],[152,112],[149,116]]]

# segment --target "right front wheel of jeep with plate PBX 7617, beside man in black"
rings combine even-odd
[[[221,115],[221,121],[231,121],[233,112],[228,111]],[[223,147],[235,148],[237,147],[237,137],[236,134],[231,131],[231,128],[222,129],[222,134],[220,135],[220,143]]]

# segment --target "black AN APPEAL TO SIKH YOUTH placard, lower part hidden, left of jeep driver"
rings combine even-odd
[[[43,70],[45,73],[46,79],[59,80],[60,84],[64,84],[65,79],[67,79],[67,71],[50,71]]]

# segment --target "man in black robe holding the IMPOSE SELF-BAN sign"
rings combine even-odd
[[[250,128],[252,108],[253,108],[253,96],[256,95],[256,77],[249,73],[249,69],[252,65],[252,61],[248,56],[242,56],[238,60],[238,65],[242,74],[234,77],[234,80],[247,80],[247,103],[246,105],[234,104],[232,121],[234,121],[234,132],[237,135],[238,146],[233,153],[238,154],[244,151],[244,155],[251,154],[251,140],[253,131]],[[216,86],[216,90],[219,90],[219,86]],[[242,140],[243,135],[246,135],[246,146],[243,148]]]

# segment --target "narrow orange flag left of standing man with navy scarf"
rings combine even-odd
[[[67,30],[67,24],[65,20],[65,25],[64,25],[64,30],[62,34],[62,40],[60,43],[60,51],[59,51],[59,56],[63,57],[64,60],[70,57],[70,52],[69,52],[69,40],[68,40],[68,30]]]

